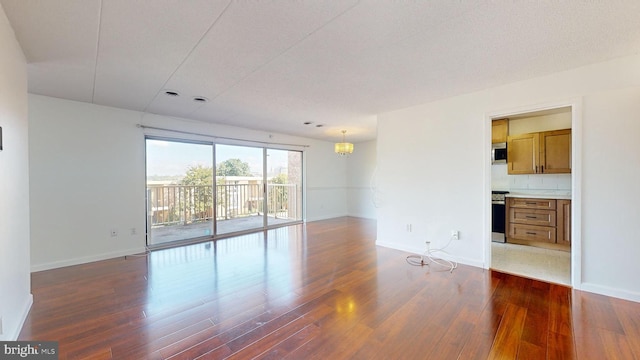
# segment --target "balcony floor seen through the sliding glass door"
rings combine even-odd
[[[238,231],[262,228],[262,215],[218,220],[218,235]],[[294,222],[292,219],[267,217],[267,225],[280,225]],[[195,223],[188,225],[167,225],[151,228],[150,245],[159,245],[172,241],[193,239],[213,234],[213,223]]]

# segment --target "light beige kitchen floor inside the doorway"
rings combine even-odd
[[[571,286],[571,253],[533,246],[491,243],[491,268]]]

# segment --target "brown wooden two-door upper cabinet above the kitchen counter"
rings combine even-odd
[[[571,173],[571,129],[509,136],[507,165],[510,175]]]

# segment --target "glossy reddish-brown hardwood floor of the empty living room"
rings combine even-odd
[[[34,273],[60,359],[640,359],[640,304],[411,266],[338,218]]]

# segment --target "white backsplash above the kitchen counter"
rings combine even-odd
[[[571,174],[508,175],[506,164],[491,165],[493,190],[566,190],[571,191]]]

